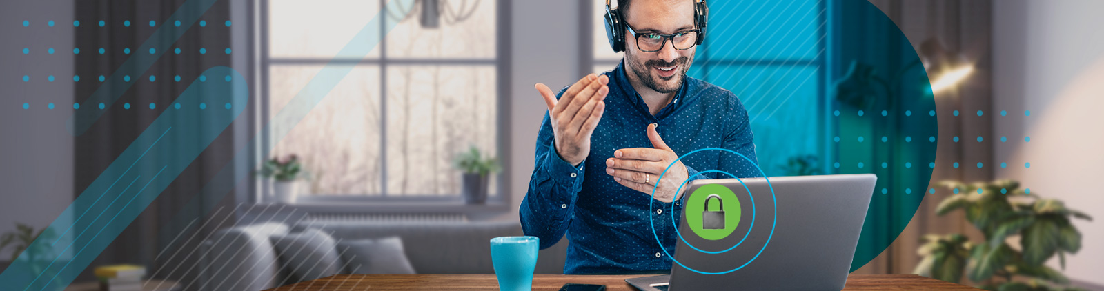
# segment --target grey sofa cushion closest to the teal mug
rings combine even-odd
[[[403,239],[396,236],[341,241],[338,252],[349,274],[414,274]]]

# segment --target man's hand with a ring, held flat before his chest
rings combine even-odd
[[[648,195],[655,190],[654,198],[670,203],[682,196],[682,193],[675,191],[687,180],[687,168],[681,161],[675,162],[679,155],[659,137],[655,123],[648,125],[648,140],[655,149],[633,148],[614,151],[614,158],[606,160],[606,174],[614,176],[617,183]],[[671,162],[675,164],[671,165]],[[671,169],[664,173],[668,165],[671,165]],[[661,173],[662,181],[657,181],[660,180]]]

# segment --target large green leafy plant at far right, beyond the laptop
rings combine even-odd
[[[1081,249],[1081,233],[1070,220],[1092,217],[1020,190],[1012,180],[941,184],[959,194],[943,200],[936,213],[963,209],[985,240],[973,242],[962,234],[925,236],[915,273],[958,282],[966,272],[978,288],[994,291],[1082,290],[1068,287],[1062,272],[1043,263],[1057,255],[1064,269],[1065,255]]]

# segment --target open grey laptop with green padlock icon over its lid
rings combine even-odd
[[[696,180],[684,192],[684,195],[710,195],[694,193],[707,184],[721,184],[734,192],[741,218],[732,234],[716,240],[701,238],[687,225],[687,212],[682,212],[679,233],[684,240],[677,239],[678,262],[671,265],[671,273],[630,278],[625,282],[641,291],[843,289],[878,177],[873,174],[771,177],[774,197],[766,179],[742,181],[743,184],[735,179]],[[734,207],[729,206],[733,205],[731,202],[724,204]],[[716,207],[715,203],[712,207]],[[726,214],[735,212],[730,208]]]

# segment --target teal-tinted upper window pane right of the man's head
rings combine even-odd
[[[815,58],[826,17],[820,1],[711,1],[702,47],[712,60]]]

